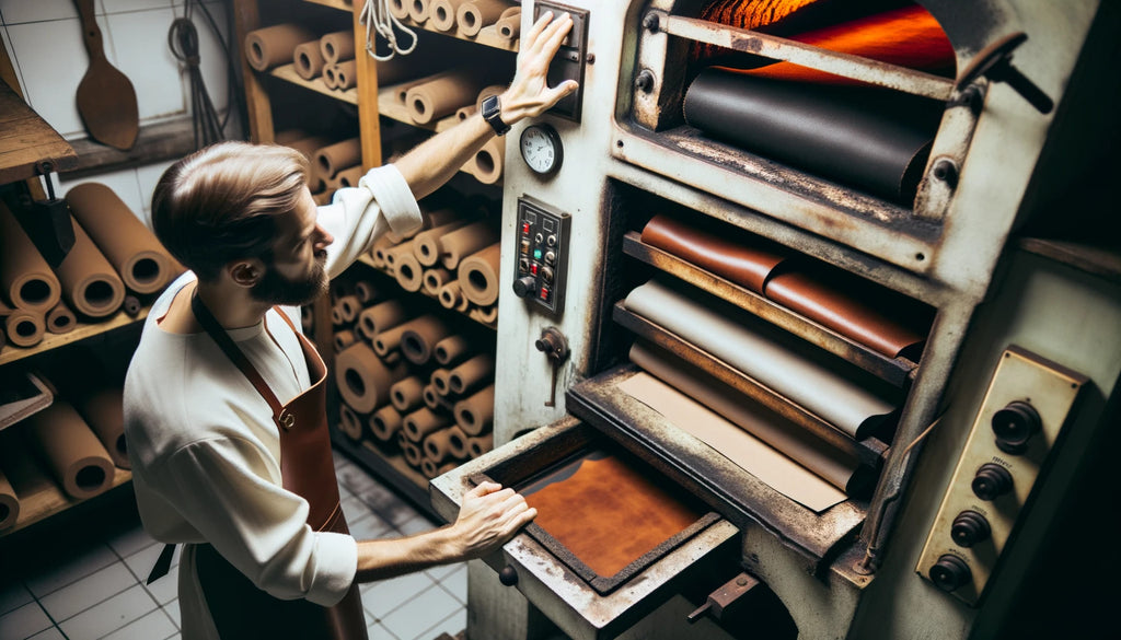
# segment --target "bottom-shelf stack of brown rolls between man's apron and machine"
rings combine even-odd
[[[435,477],[493,446],[493,345],[376,278],[332,285],[339,429]]]

